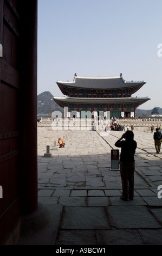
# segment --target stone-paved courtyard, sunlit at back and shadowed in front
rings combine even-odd
[[[38,202],[49,220],[19,244],[162,245],[162,154],[151,132],[134,131],[134,199],[122,201],[120,171],[110,169],[121,134],[38,130]],[[44,157],[47,145],[51,157]]]

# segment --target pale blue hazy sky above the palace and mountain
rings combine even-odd
[[[38,0],[38,88],[63,96],[56,81],[119,76],[146,84],[132,96],[162,107],[161,0]],[[158,48],[159,47],[159,48]]]

